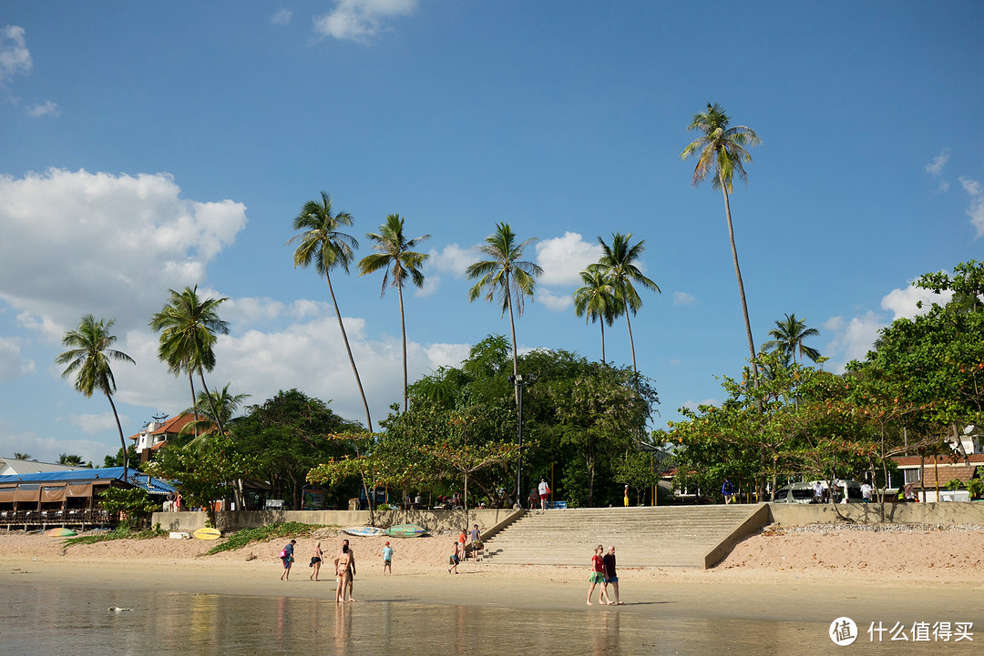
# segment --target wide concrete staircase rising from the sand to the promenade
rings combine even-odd
[[[587,567],[594,547],[615,545],[620,568],[716,565],[769,523],[766,504],[528,511],[485,546],[497,565]]]

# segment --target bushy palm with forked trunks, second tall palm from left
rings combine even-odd
[[[186,287],[180,293],[168,291],[171,294],[170,299],[151,317],[150,322],[151,328],[160,332],[157,357],[167,364],[168,370],[174,375],[179,375],[182,371],[188,374],[194,409],[196,398],[193,374],[198,374],[206,398],[212,401],[209,386],[205,382],[205,372],[215,368],[215,335],[229,333],[228,322],[218,318],[218,306],[228,299],[203,301],[198,296],[198,285]],[[215,416],[218,415],[215,409],[213,412]],[[220,420],[218,430],[224,432]]]

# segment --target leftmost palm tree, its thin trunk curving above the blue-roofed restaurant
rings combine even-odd
[[[113,327],[115,319],[108,321],[92,317],[86,314],[82,317],[79,327],[70,330],[62,338],[62,345],[68,347],[68,351],[55,358],[57,364],[68,364],[62,371],[62,378],[68,378],[75,374],[75,389],[84,394],[87,398],[92,398],[93,392],[101,392],[106,395],[109,407],[113,409],[113,417],[116,419],[116,430],[120,434],[120,446],[123,448],[123,480],[127,478],[127,466],[129,465],[126,455],[126,439],[123,437],[123,426],[120,425],[120,416],[116,412],[116,404],[113,403],[113,394],[116,392],[116,379],[113,378],[113,370],[109,366],[111,360],[118,362],[130,362],[136,364],[134,359],[122,351],[116,351],[110,347],[116,342],[116,336],[109,333]]]

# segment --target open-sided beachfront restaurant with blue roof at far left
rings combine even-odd
[[[162,502],[174,488],[162,480],[123,467],[45,471],[0,476],[0,528],[41,529],[87,527],[113,523],[101,507],[102,493],[110,487],[141,487]]]

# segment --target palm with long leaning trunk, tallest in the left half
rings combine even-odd
[[[355,374],[355,384],[362,396],[362,407],[366,410],[366,428],[372,432],[369,403],[366,401],[366,393],[362,389],[362,380],[359,378],[359,370],[355,366],[355,358],[352,357],[352,350],[348,346],[348,335],[345,333],[345,324],[341,321],[341,312],[338,311],[338,300],[335,298],[331,276],[332,269],[336,266],[340,266],[345,273],[348,273],[348,264],[355,257],[353,249],[359,247],[358,241],[351,235],[338,231],[338,228],[350,226],[353,222],[354,219],[348,212],[333,214],[332,196],[322,191],[321,202],[308,200],[301,207],[300,214],[294,217],[293,229],[302,232],[290,238],[287,244],[298,243],[294,249],[295,269],[298,266],[307,268],[313,263],[318,275],[325,276],[325,280],[328,281],[328,292],[332,295],[332,302],[335,304],[338,329],[341,331],[341,339],[345,343],[345,353],[348,354],[348,362],[352,365],[352,373]]]

